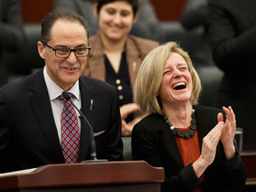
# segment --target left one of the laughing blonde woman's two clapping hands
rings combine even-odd
[[[216,147],[220,141],[221,132],[224,128],[224,122],[219,122],[203,139],[201,156],[193,164],[196,176],[199,178],[204,170],[212,164],[215,155]]]

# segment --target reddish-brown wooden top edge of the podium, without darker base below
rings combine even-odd
[[[164,168],[145,161],[43,165],[34,172],[0,178],[7,188],[52,188],[163,182]]]

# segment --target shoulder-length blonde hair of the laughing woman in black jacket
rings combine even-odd
[[[162,114],[161,103],[157,98],[157,93],[163,79],[164,63],[169,59],[171,52],[179,53],[186,61],[193,86],[190,102],[192,105],[197,104],[202,87],[196,69],[193,67],[188,52],[183,51],[179,44],[168,42],[149,52],[140,66],[134,85],[134,102],[137,103],[143,112]]]

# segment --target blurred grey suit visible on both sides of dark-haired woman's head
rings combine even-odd
[[[54,0],[54,9],[69,10],[82,15],[90,26],[90,35],[99,31],[98,20],[93,16],[93,4],[97,0]],[[139,0],[140,12],[130,34],[151,40],[165,42],[165,31],[161,28],[161,21],[157,19],[154,5],[150,0]]]

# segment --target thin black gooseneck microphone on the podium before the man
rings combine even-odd
[[[85,162],[106,162],[108,161],[107,159],[97,159],[97,154],[96,154],[96,145],[95,145],[95,140],[94,140],[94,136],[93,136],[93,131],[92,131],[92,126],[89,123],[89,121],[87,120],[87,118],[84,116],[84,114],[82,113],[81,110],[79,110],[76,105],[73,103],[69,95],[68,92],[64,91],[62,92],[62,96],[64,97],[65,100],[69,100],[71,102],[71,104],[76,108],[76,110],[80,113],[81,116],[83,116],[85,122],[89,125],[90,129],[91,129],[91,160],[86,160],[86,161],[82,161],[82,163]]]

